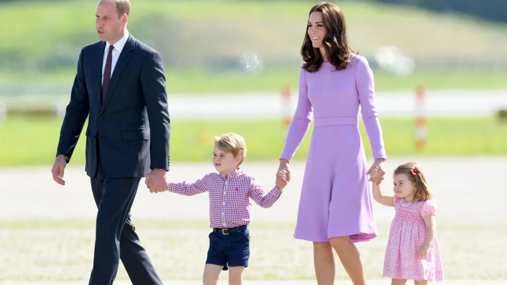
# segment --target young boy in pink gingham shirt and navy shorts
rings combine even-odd
[[[286,172],[277,173],[276,186],[267,194],[255,178],[239,166],[246,157],[244,139],[234,133],[215,137],[213,166],[216,171],[193,183],[169,183],[168,191],[192,196],[209,192],[209,249],[203,283],[216,284],[222,270],[229,270],[229,284],[240,285],[250,257],[251,203],[263,208],[273,206],[287,185]],[[149,182],[150,184],[150,182]]]

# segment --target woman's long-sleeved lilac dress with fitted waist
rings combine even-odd
[[[365,149],[358,111],[373,157],[386,158],[375,108],[373,72],[366,58],[354,56],[347,68],[334,71],[329,62],[299,74],[299,99],[280,158],[291,161],[308,131],[314,128],[306,161],[294,237],[328,241],[350,236],[353,242],[377,236]]]

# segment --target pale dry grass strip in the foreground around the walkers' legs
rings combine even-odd
[[[258,210],[258,209],[257,209]],[[254,210],[254,211],[257,211]],[[269,211],[269,210],[265,210]],[[170,214],[168,214],[170,215]],[[208,248],[205,220],[133,220],[143,247],[163,280],[199,280]],[[357,244],[368,279],[382,279],[389,225],[378,237]],[[245,280],[312,280],[311,242],[294,239],[294,222],[257,222],[250,226],[250,266]],[[484,233],[491,233],[484,242]],[[504,225],[439,224],[438,238],[446,279],[507,279]],[[89,278],[93,262],[93,220],[0,221],[0,282],[75,281]],[[337,258],[336,258],[337,259]],[[221,280],[227,279],[223,272]],[[336,261],[336,278],[348,279]],[[117,280],[128,280],[120,264]]]

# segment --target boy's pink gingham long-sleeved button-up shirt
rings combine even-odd
[[[262,208],[278,200],[281,190],[276,186],[265,194],[259,182],[240,169],[228,175],[208,173],[193,183],[169,183],[168,190],[186,196],[209,192],[209,221],[211,228],[233,228],[250,224],[252,198]]]

